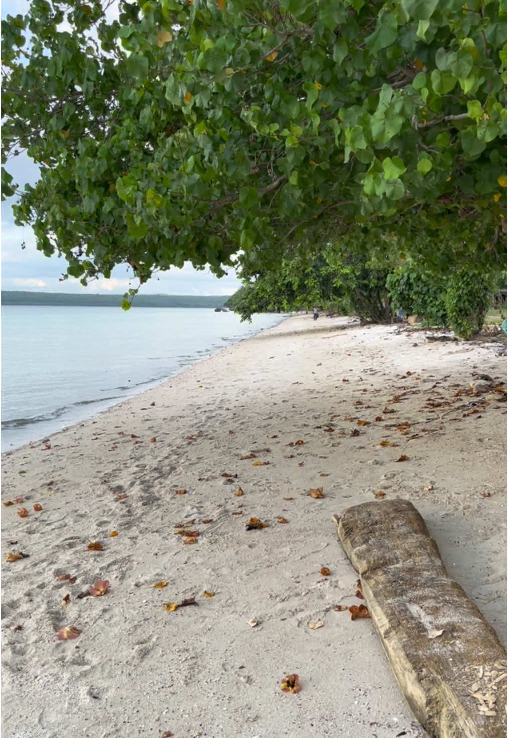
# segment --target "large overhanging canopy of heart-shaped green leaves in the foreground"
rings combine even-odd
[[[437,269],[490,267],[505,18],[488,0],[120,0],[111,21],[32,0],[2,22],[2,156],[26,150],[40,178],[4,172],[4,196],[83,283],[186,260],[250,278],[354,224],[373,254],[397,234]]]

